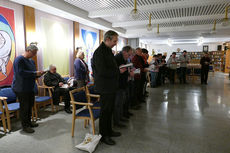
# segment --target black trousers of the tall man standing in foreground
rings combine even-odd
[[[99,133],[105,137],[110,136],[112,132],[112,114],[116,93],[101,93],[100,96]]]

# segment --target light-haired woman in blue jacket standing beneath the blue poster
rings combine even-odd
[[[77,81],[77,87],[83,87],[89,80],[88,65],[84,61],[84,52],[79,51],[74,61],[74,77]]]

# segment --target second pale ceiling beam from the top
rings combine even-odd
[[[229,16],[230,16],[230,13],[229,13]],[[199,21],[199,20],[212,20],[212,19],[222,19],[222,18],[224,18],[224,14],[190,16],[190,17],[179,17],[179,18],[155,19],[155,20],[152,20],[152,24]],[[133,27],[133,26],[147,25],[148,23],[149,23],[149,20],[125,21],[125,22],[113,23],[112,26],[113,27]]]

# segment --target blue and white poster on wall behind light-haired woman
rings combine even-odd
[[[89,71],[92,71],[91,58],[93,57],[93,53],[97,47],[96,46],[97,33],[85,29],[81,29],[81,37],[83,40],[82,50],[85,53],[85,62],[88,64]]]

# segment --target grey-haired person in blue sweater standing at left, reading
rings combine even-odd
[[[23,131],[33,133],[33,127],[37,123],[31,122],[32,107],[34,105],[35,79],[45,72],[36,71],[34,61],[31,59],[36,56],[38,48],[35,44],[30,44],[23,55],[14,60],[14,77],[12,88],[20,102],[20,120]]]

